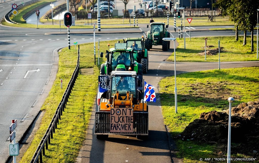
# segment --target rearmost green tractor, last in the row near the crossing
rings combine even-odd
[[[170,49],[170,41],[162,40],[165,37],[170,37],[170,33],[166,31],[164,23],[150,23],[150,30],[147,32],[145,40],[145,47],[147,50],[152,49],[152,45],[162,45],[162,50],[167,51]],[[147,25],[148,28],[148,25]]]

